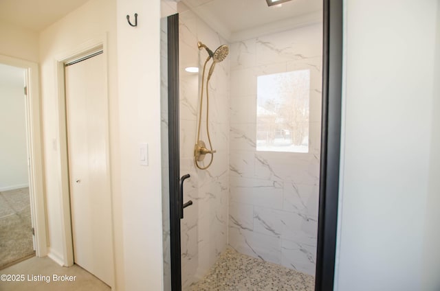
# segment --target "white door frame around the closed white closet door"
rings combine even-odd
[[[59,156],[60,165],[61,165],[61,177],[60,178],[60,187],[61,187],[61,234],[62,234],[62,245],[63,245],[63,254],[62,257],[58,257],[55,254],[50,254],[50,257],[61,264],[63,266],[69,267],[74,264],[74,246],[72,241],[72,217],[71,217],[71,209],[70,209],[70,189],[69,189],[69,157],[67,153],[67,113],[66,113],[66,96],[65,96],[65,74],[64,67],[66,62],[70,62],[72,60],[87,56],[94,51],[102,49],[102,55],[104,56],[104,71],[108,73],[107,68],[107,60],[108,60],[108,47],[107,47],[107,35],[104,34],[102,36],[98,36],[96,38],[92,38],[90,40],[85,41],[74,47],[73,49],[66,51],[63,54],[60,54],[54,58],[54,70],[56,73],[56,94],[58,95],[58,148],[59,148]],[[106,84],[106,100],[107,100],[107,111],[109,108],[109,100],[108,100],[108,76],[107,73],[105,75],[105,84]],[[109,124],[109,115],[107,115],[107,124]],[[106,132],[107,139],[107,165],[109,170],[109,177],[111,183],[111,164],[110,164],[110,148],[109,148],[109,127]],[[111,217],[113,217],[113,195],[110,193],[111,200]],[[111,241],[111,249],[112,253],[109,254],[112,256],[113,260],[113,281],[111,282],[111,288],[114,289],[115,286],[115,238],[114,238],[114,226],[113,220],[109,222],[111,224],[112,231],[112,241]]]

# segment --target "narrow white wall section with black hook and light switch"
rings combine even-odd
[[[125,290],[162,290],[160,1],[117,0]],[[126,15],[137,12],[131,27]],[[139,144],[148,143],[148,166]]]

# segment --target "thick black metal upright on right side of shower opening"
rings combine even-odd
[[[333,290],[342,98],[342,0],[324,0],[321,164],[316,291]]]

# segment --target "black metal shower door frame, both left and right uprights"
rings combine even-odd
[[[315,291],[333,290],[342,99],[342,0],[323,0],[322,122]],[[181,291],[179,192],[179,14],[168,16],[168,157],[171,290]]]

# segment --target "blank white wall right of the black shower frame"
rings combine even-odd
[[[430,152],[438,145],[433,117],[438,109],[432,110],[439,98],[438,87],[437,95],[433,91],[437,5],[344,2],[336,290],[439,290],[424,281],[438,277],[438,261],[423,261],[423,246],[438,253],[430,242],[423,244],[424,238],[438,241],[439,231],[436,223],[427,223],[430,215],[438,218],[440,190],[438,182],[428,183],[430,164],[437,179],[439,165],[438,154]],[[426,212],[428,194],[437,205]],[[424,265],[437,270],[425,275]]]

